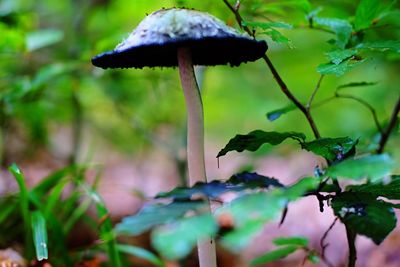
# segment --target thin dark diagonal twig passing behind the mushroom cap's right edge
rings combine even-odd
[[[239,13],[239,11],[237,9],[235,9],[229,2],[228,0],[223,0],[223,2],[225,3],[225,5],[232,11],[232,13],[235,15],[236,21],[239,24],[239,26],[246,31],[250,36],[255,37],[255,32],[252,31],[249,27],[244,26],[243,25],[243,19]],[[306,117],[311,130],[315,136],[316,139],[321,138],[321,135],[318,131],[318,128],[314,122],[313,117],[311,116],[311,113],[308,112],[307,108],[300,103],[300,101],[292,94],[292,92],[289,90],[289,88],[286,86],[285,82],[282,80],[281,76],[279,75],[279,73],[277,72],[277,70],[275,69],[274,65],[272,64],[271,60],[268,58],[267,55],[264,55],[262,57],[265,61],[265,63],[267,63],[268,68],[270,69],[272,76],[274,77],[275,81],[278,83],[281,91],[286,95],[286,97],[293,102],[293,104],[295,104],[295,106],[304,114],[304,116]]]

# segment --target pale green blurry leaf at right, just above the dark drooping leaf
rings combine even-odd
[[[356,180],[369,178],[374,182],[389,175],[393,167],[394,162],[388,155],[371,155],[344,160],[329,167],[326,174],[336,178]]]

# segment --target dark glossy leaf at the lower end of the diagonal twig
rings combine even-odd
[[[349,137],[320,138],[311,142],[304,142],[301,147],[324,157],[328,161],[337,161],[354,155],[357,143],[358,140],[353,140]]]

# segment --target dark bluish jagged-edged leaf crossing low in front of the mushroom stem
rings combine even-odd
[[[160,193],[156,198],[191,199],[193,195],[203,195],[216,198],[226,192],[240,192],[248,189],[283,187],[278,180],[259,175],[257,173],[243,172],[233,175],[226,182],[211,181],[198,182],[192,187],[176,187],[169,192]]]

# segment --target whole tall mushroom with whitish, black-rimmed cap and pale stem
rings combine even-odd
[[[113,51],[92,59],[107,68],[179,67],[187,107],[187,161],[190,185],[207,182],[204,120],[193,65],[239,66],[267,50],[265,41],[240,34],[221,20],[189,9],[161,9],[148,15]],[[201,267],[216,266],[212,239],[198,242]]]

